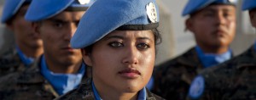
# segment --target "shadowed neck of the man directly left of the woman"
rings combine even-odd
[[[82,64],[82,60],[77,63],[61,64],[51,60],[51,58],[47,58],[47,55],[44,56],[48,69],[54,73],[76,74],[79,72],[79,69]]]

